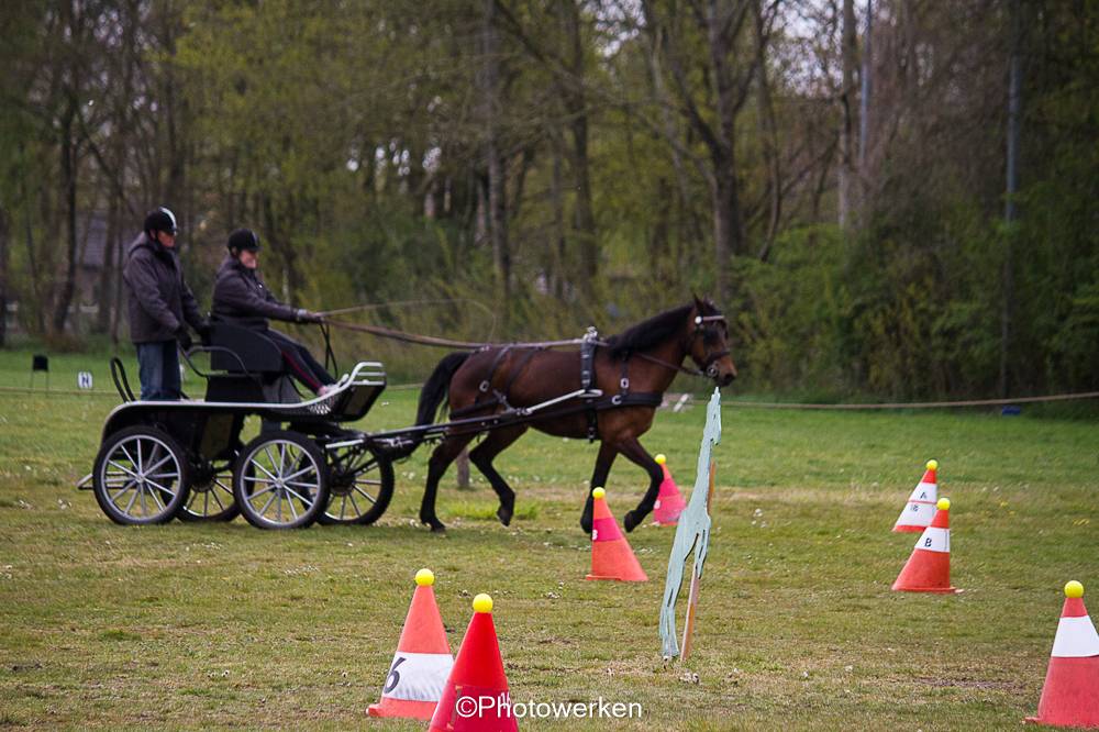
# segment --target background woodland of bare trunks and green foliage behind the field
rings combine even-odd
[[[0,306],[124,341],[121,251],[81,287],[82,232],[129,242],[164,203],[204,302],[247,225],[293,302],[459,300],[374,322],[576,335],[697,290],[757,390],[1096,389],[1097,23],[1089,0],[7,2]]]

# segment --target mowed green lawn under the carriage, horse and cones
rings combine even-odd
[[[23,359],[0,358],[0,386],[25,386]],[[57,359],[54,387],[71,389],[85,361]],[[387,392],[360,426],[409,424],[414,400]],[[510,528],[476,473],[468,491],[444,480],[446,535],[418,525],[422,450],[375,526],[135,529],[73,487],[116,402],[0,391],[0,727],[418,729],[366,707],[424,566],[455,652],[471,597],[495,598],[513,700],[643,708],[524,729],[1013,727],[1037,707],[1064,583],[1099,610],[1095,422],[728,407],[696,655],[665,666],[674,530],[629,536],[648,583],[585,581],[586,442],[529,434],[501,456],[519,495]],[[660,412],[643,440],[685,492],[703,419],[701,406]],[[930,457],[954,501],[953,597],[889,589],[915,541],[890,528]],[[644,487],[615,464],[620,519]]]

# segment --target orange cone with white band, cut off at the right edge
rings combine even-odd
[[[1099,728],[1099,633],[1084,607],[1084,585],[1065,585],[1065,607],[1053,640],[1050,668],[1028,722]]]

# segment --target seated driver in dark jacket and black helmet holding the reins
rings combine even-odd
[[[287,371],[318,396],[328,393],[335,379],[309,350],[290,336],[268,328],[268,319],[291,323],[320,323],[323,318],[303,308],[279,302],[264,285],[259,266],[259,237],[251,229],[238,229],[229,237],[229,256],[218,268],[213,286],[213,310],[217,320],[258,331],[269,337],[282,353]]]

